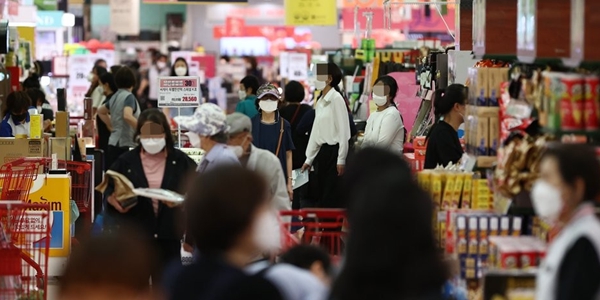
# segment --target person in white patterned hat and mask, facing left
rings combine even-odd
[[[229,128],[225,112],[216,104],[204,103],[193,116],[176,117],[182,129],[188,130],[192,147],[204,150],[204,158],[198,166],[203,173],[219,165],[239,165],[237,156],[227,146]]]

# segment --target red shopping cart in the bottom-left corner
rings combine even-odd
[[[46,204],[0,202],[0,299],[46,299],[51,218]]]

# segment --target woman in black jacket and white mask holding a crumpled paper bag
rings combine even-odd
[[[123,174],[136,188],[161,188],[185,194],[188,176],[193,176],[196,163],[175,148],[171,127],[165,115],[158,109],[145,110],[135,130],[139,145],[120,156],[110,170]],[[180,259],[183,230],[181,207],[170,203],[138,197],[133,207],[123,208],[107,190],[107,219],[114,226],[133,225],[153,243],[159,255],[159,267],[152,273],[152,282],[161,282],[164,266]]]

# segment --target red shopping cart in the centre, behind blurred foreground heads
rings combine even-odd
[[[284,250],[298,244],[319,245],[332,257],[340,257],[346,227],[343,209],[301,209],[280,212]],[[291,221],[289,220],[291,217]],[[302,228],[292,233],[292,228]]]

